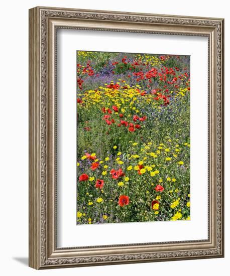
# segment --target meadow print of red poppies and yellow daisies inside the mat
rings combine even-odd
[[[77,224],[190,219],[189,63],[77,51]]]

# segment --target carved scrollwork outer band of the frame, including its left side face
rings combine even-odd
[[[100,13],[101,12],[101,13]],[[98,14],[99,13],[99,14]],[[82,256],[56,259],[47,255],[47,30],[46,16],[59,18],[80,18],[87,20],[105,20],[107,22],[145,22],[163,24],[211,26],[217,27],[218,50],[216,70],[217,81],[217,123],[219,156],[217,177],[218,214],[215,230],[218,241],[215,248],[179,252],[157,252],[150,254],[99,255],[95,257]],[[143,16],[143,17],[141,17]],[[148,18],[146,16],[149,16]],[[164,19],[163,19],[164,18]],[[188,20],[191,19],[191,20]],[[194,21],[192,20],[194,19]],[[36,269],[88,266],[102,264],[118,264],[131,262],[165,261],[195,258],[223,257],[223,19],[207,19],[171,15],[133,14],[126,12],[92,11],[79,9],[62,9],[37,7],[29,11],[29,266]],[[45,40],[44,40],[45,39]],[[216,58],[216,56],[215,56]],[[216,103],[216,102],[215,102]],[[49,111],[49,110],[48,110]],[[190,251],[189,251],[190,250]]]

